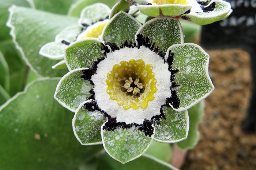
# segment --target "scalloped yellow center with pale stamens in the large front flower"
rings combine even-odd
[[[121,61],[108,72],[107,93],[125,110],[146,108],[148,102],[154,99],[156,82],[150,64],[145,65],[141,59]]]

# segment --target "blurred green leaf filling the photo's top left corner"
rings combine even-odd
[[[30,4],[26,0],[0,0],[0,4],[0,40],[8,40],[12,38],[9,34],[10,28],[5,25],[9,16],[8,8],[13,4],[24,7],[30,7]]]

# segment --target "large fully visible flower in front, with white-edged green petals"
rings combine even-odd
[[[69,72],[54,98],[75,112],[73,130],[82,145],[102,143],[126,163],[152,140],[187,138],[187,109],[214,89],[208,60],[201,47],[184,43],[178,19],[157,17],[141,25],[120,11],[100,39],[81,39],[65,49]]]

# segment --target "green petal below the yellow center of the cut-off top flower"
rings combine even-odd
[[[141,13],[148,16],[180,16],[192,8],[191,4],[163,4],[163,5],[139,5],[138,9]]]

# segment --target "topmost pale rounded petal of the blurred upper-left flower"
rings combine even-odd
[[[110,8],[108,5],[102,3],[95,3],[85,7],[80,15],[78,23],[84,27],[83,24],[91,25],[97,21],[104,20],[109,16]]]

